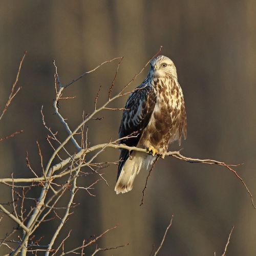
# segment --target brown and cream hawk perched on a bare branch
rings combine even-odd
[[[147,153],[120,148],[116,194],[133,188],[141,169],[156,157],[164,158],[168,144],[186,139],[187,121],[183,92],[174,62],[158,55],[150,62],[144,81],[127,98],[119,127],[119,143],[146,149]]]

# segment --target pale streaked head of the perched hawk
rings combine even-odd
[[[166,56],[159,55],[151,60],[151,69],[148,75],[153,78],[170,77],[177,79],[177,71],[174,62]]]

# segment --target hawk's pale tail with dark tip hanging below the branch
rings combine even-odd
[[[140,170],[147,169],[155,158],[143,152],[133,151],[130,159],[129,151],[127,150],[122,150],[120,157],[122,157],[122,161],[118,166],[117,182],[115,186],[116,194],[126,193],[132,190],[134,179]]]

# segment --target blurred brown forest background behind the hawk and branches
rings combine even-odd
[[[28,51],[18,82],[23,88],[0,123],[0,137],[21,129],[24,132],[0,143],[1,178],[11,177],[12,172],[14,177],[31,176],[26,151],[33,168],[40,170],[36,140],[45,163],[48,161],[52,149],[45,139],[41,105],[47,124],[59,131],[59,139],[66,136],[53,115],[53,59],[65,84],[105,60],[124,56],[114,89],[117,93],[162,45],[162,54],[176,65],[185,97],[188,135],[182,141],[182,154],[244,163],[237,170],[256,201],[255,13],[253,0],[1,1],[1,110],[18,63]],[[99,86],[98,105],[106,101],[117,64],[101,67],[66,90],[64,96],[76,95],[76,99],[60,104],[60,112],[71,128],[81,122],[83,110],[92,112]],[[146,74],[147,69],[131,89]],[[119,98],[112,106],[121,108],[126,99]],[[104,119],[89,123],[91,145],[118,137],[121,111],[104,111],[101,115]],[[178,144],[170,145],[170,150],[178,149]],[[118,157],[117,150],[108,149],[99,159],[116,161]],[[255,255],[255,209],[242,183],[224,167],[190,164],[172,157],[161,159],[148,180],[142,206],[146,172],[140,173],[130,193],[118,196],[114,192],[117,167],[110,166],[103,173],[109,186],[103,181],[96,184],[96,197],[86,191],[77,194],[75,201],[80,205],[61,231],[66,237],[73,230],[67,248],[119,224],[97,244],[130,245],[98,254],[149,255],[153,243],[159,246],[174,214],[159,255],[214,255],[214,251],[221,255],[232,225],[227,254]],[[90,179],[84,181],[89,184]],[[0,189],[1,201],[11,200],[10,189],[4,185]],[[5,217],[0,238],[13,226]],[[49,225],[38,236],[47,237],[55,228]],[[91,251],[94,248],[92,245]],[[0,254],[4,253],[3,248]]]

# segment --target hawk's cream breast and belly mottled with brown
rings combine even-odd
[[[162,154],[170,141],[180,138],[183,94],[174,80],[157,78],[152,86],[157,95],[156,105],[141,140],[145,147],[153,146]]]

